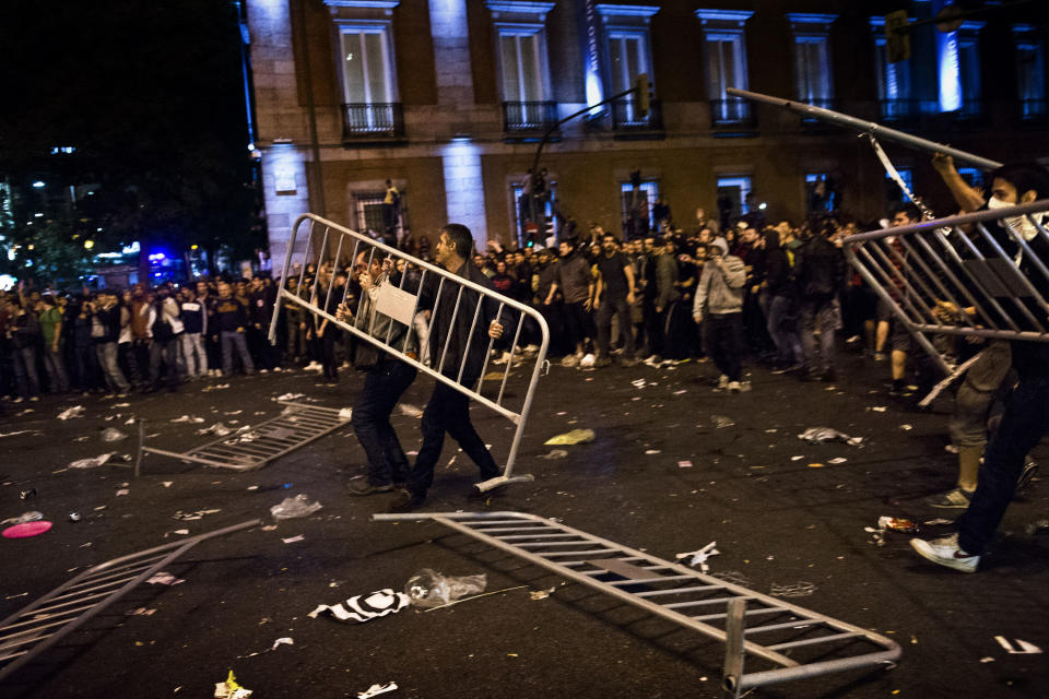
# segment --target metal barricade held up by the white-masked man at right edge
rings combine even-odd
[[[845,254],[951,374],[930,335],[1049,342],[1047,212],[1049,199],[861,233],[845,238]]]

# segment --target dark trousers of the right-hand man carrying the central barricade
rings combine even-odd
[[[473,386],[475,382],[476,377],[473,382],[464,380],[463,386]],[[456,389],[441,382],[434,387],[434,394],[423,411],[421,431],[423,446],[419,449],[415,465],[408,474],[408,489],[413,495],[425,495],[434,484],[434,466],[445,446],[445,433],[459,442],[462,451],[478,464],[482,481],[502,473],[470,422],[470,399]]]

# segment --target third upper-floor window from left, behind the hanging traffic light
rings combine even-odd
[[[598,4],[596,8],[604,27],[605,79],[610,94],[625,92],[634,86],[637,76],[648,74],[655,84],[648,24],[659,8],[629,4]],[[655,126],[653,114],[641,116],[636,97],[623,97],[612,104],[615,128]]]

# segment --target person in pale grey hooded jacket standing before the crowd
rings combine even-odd
[[[750,391],[750,381],[741,380],[743,355],[743,286],[746,268],[743,260],[729,254],[724,238],[716,238],[707,249],[707,261],[696,288],[692,316],[703,323],[703,343],[721,371],[718,390],[732,393]]]

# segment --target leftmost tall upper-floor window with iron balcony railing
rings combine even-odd
[[[343,95],[343,141],[404,133],[393,56],[396,0],[326,0],[333,14]]]

